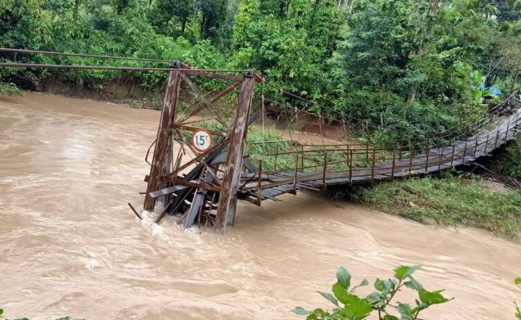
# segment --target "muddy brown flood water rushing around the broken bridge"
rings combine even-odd
[[[139,221],[158,111],[25,93],[0,98],[0,307],[8,318],[290,319],[358,282],[421,264],[454,297],[423,319],[513,319],[521,245],[320,196],[240,203],[226,234]],[[368,293],[369,288],[360,292]],[[414,296],[399,294],[401,302]],[[372,318],[374,319],[374,318]]]

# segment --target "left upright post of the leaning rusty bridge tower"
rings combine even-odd
[[[179,67],[179,63],[174,63],[174,67]],[[163,110],[159,122],[156,147],[154,148],[154,158],[149,174],[149,184],[147,194],[144,197],[143,208],[147,211],[154,211],[156,198],[152,198],[150,193],[162,189],[160,177],[167,175],[172,166],[172,134],[170,127],[176,118],[177,101],[179,98],[179,71],[170,71],[167,80],[165,99],[163,99]]]

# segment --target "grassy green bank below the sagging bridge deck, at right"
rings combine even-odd
[[[421,223],[481,227],[513,239],[519,239],[521,232],[521,191],[489,191],[475,175],[411,177],[333,189],[329,195]]]

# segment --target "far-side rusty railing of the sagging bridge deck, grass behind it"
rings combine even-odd
[[[285,173],[288,176],[288,173],[293,173],[296,179],[297,175],[307,173],[314,180],[322,179],[325,186],[328,179],[344,179],[344,182],[347,179],[353,182],[431,173],[473,161],[495,150],[515,135],[521,124],[520,118],[521,113],[515,113],[508,121],[500,122],[495,130],[461,138],[451,145],[422,150],[370,148],[367,144],[293,145],[292,150],[261,155],[264,160],[275,158],[274,168],[265,168],[263,174]],[[258,188],[261,189],[260,184]]]

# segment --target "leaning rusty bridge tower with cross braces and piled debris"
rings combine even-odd
[[[203,222],[214,225],[217,232],[224,232],[226,224],[232,224],[235,216],[247,130],[258,118],[257,114],[250,114],[255,83],[264,80],[252,71],[236,77],[190,69],[190,65],[176,62],[169,72],[154,156],[146,179],[144,209],[160,209],[156,222],[166,215],[180,215],[179,223],[184,227]],[[213,77],[233,82],[208,98],[190,77]],[[213,104],[239,86],[235,116],[229,123]],[[178,118],[179,95],[185,88],[200,103]],[[224,129],[206,129],[217,141],[210,150],[199,153],[183,133],[201,129],[197,127],[197,120],[192,119],[203,112],[213,116],[213,120]],[[179,149],[174,150],[174,146]]]

